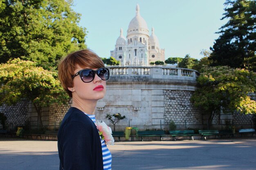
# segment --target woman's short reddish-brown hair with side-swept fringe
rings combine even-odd
[[[105,67],[101,58],[89,49],[72,52],[64,57],[58,64],[58,78],[67,94],[72,98],[72,92],[68,87],[73,87],[73,78],[76,65],[81,68],[102,68]]]

